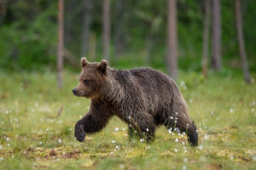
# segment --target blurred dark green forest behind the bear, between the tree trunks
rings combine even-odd
[[[180,70],[202,70],[205,0],[177,0],[177,58]],[[64,64],[80,70],[80,58],[103,59],[103,1],[65,0]],[[241,0],[242,28],[249,70],[255,75],[256,1]],[[58,1],[1,0],[0,68],[8,71],[56,70]],[[210,11],[210,13],[212,10]],[[236,31],[235,2],[220,3],[221,68],[242,70]],[[167,1],[110,0],[111,67],[150,66],[168,72]],[[209,17],[208,67],[213,30]],[[224,68],[224,69],[223,69]],[[242,74],[242,71],[239,72]]]

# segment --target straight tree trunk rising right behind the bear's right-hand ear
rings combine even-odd
[[[109,63],[110,0],[103,0],[103,58]]]

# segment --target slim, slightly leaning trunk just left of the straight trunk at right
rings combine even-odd
[[[211,0],[204,1],[204,32],[203,32],[203,54],[202,54],[202,74],[207,77],[209,27],[210,27],[210,6]]]

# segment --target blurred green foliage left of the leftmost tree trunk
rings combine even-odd
[[[57,2],[13,1],[0,28],[0,65],[40,70],[56,60]],[[10,20],[8,20],[10,17]]]

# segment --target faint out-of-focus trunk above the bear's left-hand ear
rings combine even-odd
[[[81,57],[88,57],[90,25],[92,20],[92,1],[84,0],[83,30],[81,43]]]

